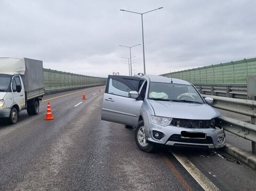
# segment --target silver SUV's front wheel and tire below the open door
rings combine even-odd
[[[140,150],[144,152],[154,151],[154,145],[146,140],[145,127],[143,121],[139,121],[135,128],[135,141]]]

